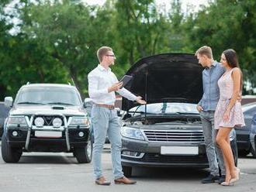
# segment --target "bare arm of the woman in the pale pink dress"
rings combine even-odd
[[[240,95],[240,78],[241,78],[240,69],[235,67],[234,70],[232,71],[231,76],[234,82],[234,85],[233,85],[234,90],[233,90],[232,98],[230,99],[230,103],[229,105],[227,105],[227,109],[223,115],[224,121],[228,120],[230,116],[231,108],[233,108],[233,106],[237,101],[238,96]]]

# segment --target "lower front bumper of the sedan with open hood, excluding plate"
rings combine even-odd
[[[200,167],[209,166],[206,149],[201,143],[147,142],[136,139],[122,139],[121,161],[123,166],[151,167]],[[197,155],[162,155],[161,146],[195,146]],[[133,155],[126,155],[131,152]]]

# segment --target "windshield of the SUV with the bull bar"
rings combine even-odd
[[[68,87],[23,87],[17,105],[81,105],[78,92]]]

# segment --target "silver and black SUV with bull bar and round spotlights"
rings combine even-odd
[[[2,158],[19,162],[22,152],[74,153],[78,163],[92,160],[90,124],[76,87],[66,84],[27,84],[12,107],[2,136]]]

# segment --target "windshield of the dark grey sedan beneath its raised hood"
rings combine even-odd
[[[131,113],[144,113],[145,105],[130,109]],[[190,103],[154,103],[147,105],[147,113],[150,114],[199,114],[195,104]]]

